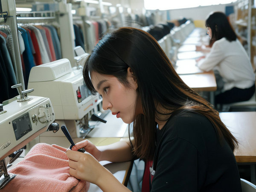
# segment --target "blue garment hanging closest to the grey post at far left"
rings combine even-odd
[[[29,45],[29,38],[26,29],[23,29],[22,27],[18,27],[18,30],[21,32],[24,45],[25,45],[25,51],[23,52],[23,60],[25,64],[25,71],[26,71],[26,82],[29,81],[29,73],[32,67],[35,67],[34,57],[32,54],[31,47]],[[25,84],[25,87],[27,85]]]

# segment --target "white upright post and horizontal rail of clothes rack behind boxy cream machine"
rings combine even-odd
[[[71,3],[58,3],[58,11],[25,12],[17,14],[19,23],[43,23],[56,22],[60,29],[60,42],[62,58],[67,58],[72,67],[76,66],[75,61],[75,35],[73,31]]]

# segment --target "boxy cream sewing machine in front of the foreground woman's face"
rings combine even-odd
[[[83,61],[85,57],[78,58]],[[100,111],[102,99],[99,95],[92,96],[84,84],[82,67],[71,67],[66,58],[32,67],[29,74],[29,88],[33,88],[33,95],[48,97],[55,111],[55,122],[66,125],[71,137],[85,137],[92,129],[88,125],[91,111]],[[58,131],[44,133],[43,137],[63,137]],[[41,140],[39,141],[41,142]],[[48,143],[44,141],[44,143]]]

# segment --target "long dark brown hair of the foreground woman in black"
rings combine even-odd
[[[84,81],[92,93],[96,93],[90,80],[90,72],[94,71],[113,75],[128,86],[128,67],[137,79],[137,93],[144,113],[134,120],[134,154],[137,157],[152,159],[154,156],[155,118],[163,114],[157,111],[158,106],[172,111],[164,113],[166,119],[160,120],[167,120],[170,115],[184,110],[203,114],[212,122],[220,138],[224,137],[234,150],[237,141],[221,122],[218,112],[180,79],[157,41],[143,30],[124,27],[105,35],[85,62]]]

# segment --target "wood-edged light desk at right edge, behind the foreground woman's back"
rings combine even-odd
[[[251,182],[256,184],[256,111],[221,112],[220,118],[239,142],[236,162],[250,165]]]

